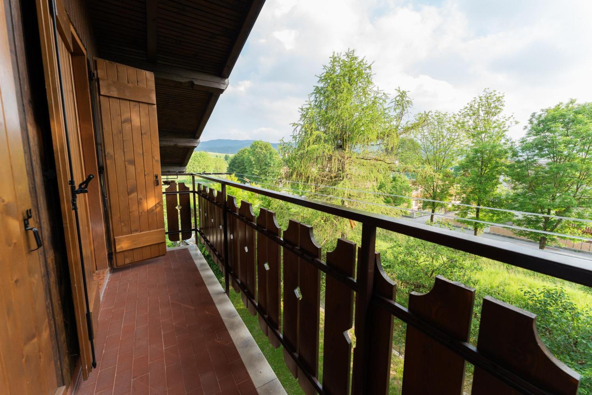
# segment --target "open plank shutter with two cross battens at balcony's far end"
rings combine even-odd
[[[166,253],[154,74],[108,60],[95,62],[119,267]]]

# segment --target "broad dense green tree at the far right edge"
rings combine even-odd
[[[508,175],[520,211],[590,218],[592,208],[592,103],[570,100],[530,116],[526,136],[514,147]],[[581,234],[585,222],[521,215],[517,225],[546,232]],[[517,231],[545,249],[556,236]]]

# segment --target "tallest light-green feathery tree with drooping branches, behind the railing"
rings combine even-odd
[[[354,190],[377,191],[379,184],[390,181],[398,140],[417,127],[416,120],[407,120],[411,106],[407,92],[397,90],[390,98],[372,76],[372,64],[354,50],[333,53],[300,108],[292,138],[280,144],[289,179],[317,184],[305,188],[321,193],[316,199],[331,195],[326,199],[334,203],[378,210],[354,200],[382,203],[380,195]],[[303,189],[297,183],[291,187]],[[353,226],[342,222],[337,227],[345,236]]]

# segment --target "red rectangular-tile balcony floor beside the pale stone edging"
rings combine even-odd
[[[191,254],[115,269],[78,395],[256,394]]]

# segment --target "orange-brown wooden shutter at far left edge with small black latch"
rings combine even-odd
[[[33,231],[23,219],[33,208],[31,227],[40,220],[31,199],[9,46],[0,0],[0,394],[54,394],[57,380],[43,272]],[[47,247],[44,247],[47,248]]]

